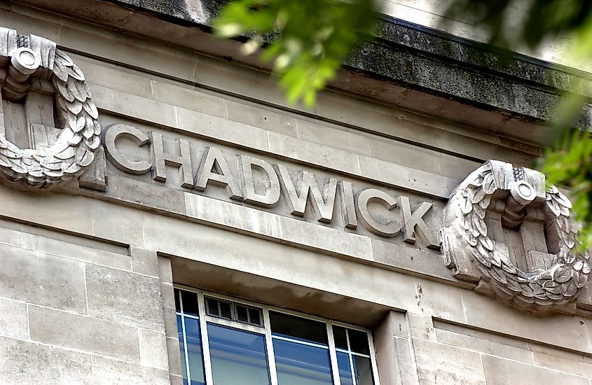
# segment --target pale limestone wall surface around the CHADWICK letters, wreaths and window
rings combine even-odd
[[[237,179],[236,155],[248,155],[295,179],[406,197],[413,210],[427,202],[434,234],[448,195],[483,161],[528,167],[541,153],[336,91],[315,111],[285,106],[266,73],[18,4],[0,25],[69,52],[104,132],[158,133],[169,158],[186,140],[192,175],[206,147]],[[153,166],[151,138],[117,146]],[[326,223],[310,202],[292,214],[284,187],[262,208],[219,186],[182,187],[172,161],[165,181],[115,163],[97,164],[104,191],[89,183],[96,170],[48,195],[0,187],[1,384],[181,384],[173,283],[369,328],[383,385],[592,384],[589,284],[570,314],[533,316],[455,279],[416,227],[383,237],[345,228],[339,201]]]

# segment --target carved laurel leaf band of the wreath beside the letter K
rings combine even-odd
[[[570,218],[571,202],[554,186],[546,191],[543,211],[547,225],[556,222],[558,253],[549,269],[524,272],[499,251],[488,235],[486,209],[500,188],[488,162],[461,183],[451,199],[456,201],[455,217],[460,219],[457,231],[470,246],[476,265],[491,278],[495,289],[514,302],[553,306],[574,300],[577,289],[586,284],[591,267],[588,255],[572,252],[577,228]]]

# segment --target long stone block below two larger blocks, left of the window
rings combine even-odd
[[[137,328],[90,316],[29,306],[33,341],[139,362]]]

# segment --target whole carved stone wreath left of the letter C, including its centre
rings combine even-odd
[[[1,179],[46,190],[80,176],[101,134],[81,69],[53,41],[0,27],[0,87]]]

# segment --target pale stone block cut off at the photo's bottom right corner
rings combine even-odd
[[[488,385],[570,384],[590,385],[590,380],[544,367],[527,365],[493,356],[482,356],[483,372]]]

